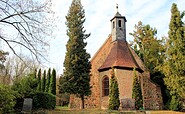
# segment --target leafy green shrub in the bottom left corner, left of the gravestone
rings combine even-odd
[[[11,113],[17,93],[8,85],[0,84],[0,113]]]

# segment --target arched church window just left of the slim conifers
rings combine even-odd
[[[102,81],[102,93],[103,96],[109,95],[109,78],[107,76]]]

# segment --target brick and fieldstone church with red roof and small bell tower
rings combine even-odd
[[[161,89],[150,80],[141,59],[126,41],[126,18],[118,11],[111,21],[111,34],[91,59],[92,94],[85,99],[85,108],[107,109],[112,67],[118,81],[120,109],[133,108],[132,86],[134,71],[141,81],[143,107],[162,109]],[[70,97],[70,107],[80,108],[80,99]]]

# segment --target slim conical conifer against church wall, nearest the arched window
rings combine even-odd
[[[109,109],[118,110],[120,106],[119,88],[117,79],[114,74],[114,68],[112,68],[109,98]]]

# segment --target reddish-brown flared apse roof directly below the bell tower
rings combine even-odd
[[[111,50],[105,59],[105,62],[98,69],[99,71],[110,69],[111,67],[119,67],[125,69],[141,70],[135,61],[129,47],[128,43],[125,41],[117,40],[111,43]]]

